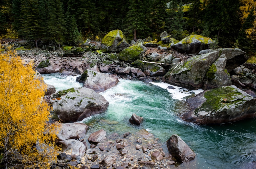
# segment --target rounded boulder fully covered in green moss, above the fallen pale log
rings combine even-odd
[[[142,59],[147,48],[143,43],[127,47],[119,53],[119,59],[128,63],[132,63],[137,59]]]

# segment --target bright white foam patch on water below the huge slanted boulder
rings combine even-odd
[[[204,90],[202,89],[198,89],[198,90],[188,90],[188,89],[185,89],[185,88],[182,88],[182,87],[178,87],[178,86],[173,86],[173,85],[170,85],[168,83],[163,83],[163,82],[150,82],[151,84],[154,84],[156,86],[159,86],[161,88],[164,88],[164,89],[167,89],[167,91],[169,93],[171,93],[171,97],[173,99],[177,99],[177,100],[184,100],[184,98],[186,96],[190,96],[192,94],[198,94]],[[173,88],[175,89],[168,89],[169,86],[172,86]]]

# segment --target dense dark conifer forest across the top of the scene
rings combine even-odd
[[[201,34],[253,55],[255,9],[253,0],[1,0],[0,36],[60,46],[101,40],[115,29],[128,40],[159,41],[167,31],[177,40]]]

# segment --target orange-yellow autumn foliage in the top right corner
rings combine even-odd
[[[240,0],[241,23],[245,22],[248,16],[253,16],[252,27],[245,30],[246,37],[251,40],[256,40],[256,1],[255,0]]]

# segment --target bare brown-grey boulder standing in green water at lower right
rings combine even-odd
[[[167,148],[169,153],[180,163],[189,162],[195,159],[196,154],[188,147],[188,145],[176,134],[167,140]]]

